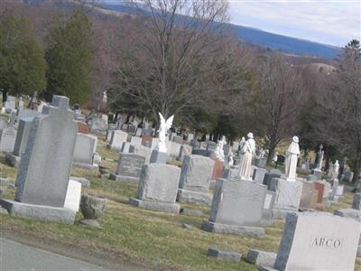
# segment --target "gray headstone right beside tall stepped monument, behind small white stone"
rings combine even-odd
[[[93,157],[96,152],[97,136],[78,133],[74,148],[73,165],[89,170],[97,169],[97,164],[93,164]]]

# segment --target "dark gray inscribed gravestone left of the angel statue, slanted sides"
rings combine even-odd
[[[138,184],[144,163],[144,156],[120,153],[118,164],[116,166],[116,173],[111,173],[110,179],[118,182]]]

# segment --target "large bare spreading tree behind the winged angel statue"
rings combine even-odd
[[[138,11],[133,20],[140,27],[124,33],[131,46],[116,70],[111,106],[153,119],[158,112],[190,116],[227,85],[220,82],[226,79],[223,71],[229,70],[222,65],[227,58],[220,57],[225,51],[222,23],[227,21],[227,3],[147,0]],[[227,82],[227,89],[240,85],[233,78]]]

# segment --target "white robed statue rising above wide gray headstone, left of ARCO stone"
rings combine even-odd
[[[252,180],[251,164],[255,153],[255,140],[252,133],[248,133],[247,141],[241,147],[241,159],[239,161],[239,177],[245,180]]]

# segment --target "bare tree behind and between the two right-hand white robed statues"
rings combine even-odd
[[[301,71],[279,56],[263,57],[257,70],[259,85],[249,103],[249,126],[264,137],[269,163],[276,146],[297,130],[302,100]]]

